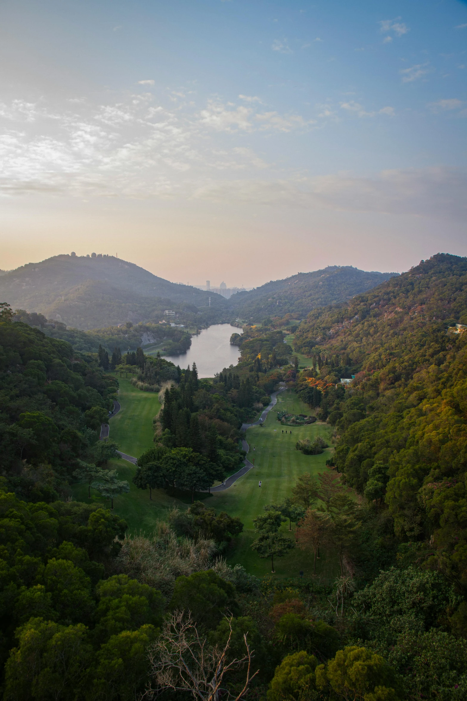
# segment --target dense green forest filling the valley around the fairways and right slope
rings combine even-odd
[[[6,700],[467,699],[467,259],[438,254],[309,313],[294,339],[306,369],[267,324],[245,327],[239,364],[207,380],[0,315]],[[106,466],[118,447],[98,440],[125,369],[163,400],[134,484],[192,501],[149,535],[70,498],[77,479],[125,491]],[[335,451],[254,517],[251,547],[272,569],[294,547],[321,554],[335,578],[227,566],[244,525],[197,501],[239,468],[242,423],[279,383]]]

